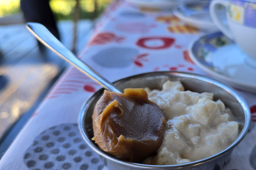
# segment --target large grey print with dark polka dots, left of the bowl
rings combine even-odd
[[[61,124],[36,136],[23,156],[28,169],[33,170],[102,170],[100,157],[80,135],[78,125]]]

